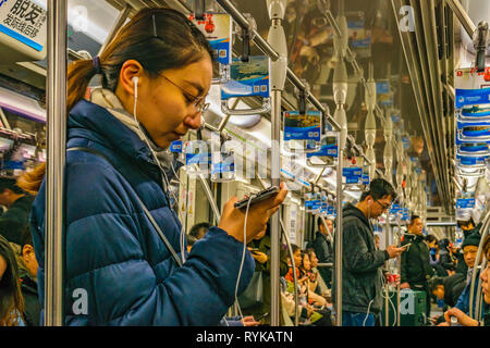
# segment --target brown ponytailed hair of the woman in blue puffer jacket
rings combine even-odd
[[[91,59],[69,65],[68,111],[84,98],[88,84],[97,73],[102,75],[102,87],[114,91],[121,67],[127,60],[136,60],[151,78],[156,78],[166,70],[195,63],[206,54],[213,60],[205,35],[184,14],[170,8],[142,9],[100,53],[99,67]],[[32,178],[34,182],[25,183],[36,192],[41,182],[39,178],[46,172],[45,164],[39,167],[37,176]],[[36,182],[39,186],[35,185]]]

